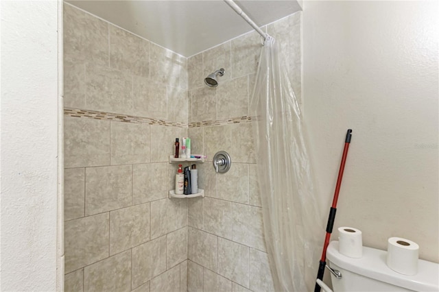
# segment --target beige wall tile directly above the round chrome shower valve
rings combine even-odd
[[[217,151],[232,151],[232,127],[231,125],[215,125],[204,127],[204,151],[207,160],[212,161]],[[232,163],[234,158],[232,158]]]

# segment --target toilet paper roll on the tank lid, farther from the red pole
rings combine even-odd
[[[418,273],[419,245],[408,239],[390,237],[387,247],[387,265],[403,275]]]

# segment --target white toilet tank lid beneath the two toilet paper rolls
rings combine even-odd
[[[349,258],[338,252],[338,241],[331,241],[327,249],[329,262],[359,275],[387,282],[414,291],[439,291],[439,264],[427,260],[418,261],[418,273],[406,276],[397,273],[386,264],[387,252],[363,247],[361,258]]]

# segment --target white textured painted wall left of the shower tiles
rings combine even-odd
[[[58,1],[1,1],[1,289],[55,291]]]

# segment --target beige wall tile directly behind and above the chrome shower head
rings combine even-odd
[[[219,84],[230,79],[230,41],[224,42],[222,45],[208,49],[202,53],[203,55],[203,80],[209,74],[224,69],[224,76],[218,77]],[[202,81],[204,82],[204,81]]]

